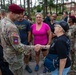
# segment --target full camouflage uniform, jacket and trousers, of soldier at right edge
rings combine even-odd
[[[71,60],[72,60],[72,66],[71,69],[73,69],[73,65],[74,65],[74,57],[75,57],[75,32],[76,32],[76,25],[72,25],[69,27],[69,31],[67,33],[67,35],[69,36],[70,40],[71,40]],[[74,50],[74,51],[73,51]]]

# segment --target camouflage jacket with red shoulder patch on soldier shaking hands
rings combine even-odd
[[[4,58],[13,65],[12,68],[18,69],[23,65],[22,54],[24,52],[27,54],[30,47],[21,44],[18,29],[9,18],[5,17],[1,20],[1,24],[1,43],[4,49]]]

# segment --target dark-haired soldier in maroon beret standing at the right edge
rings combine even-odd
[[[71,60],[72,60],[72,65],[71,65],[71,69],[73,69],[73,65],[74,65],[74,57],[75,57],[75,32],[76,32],[76,25],[75,23],[75,17],[70,16],[69,17],[69,25],[70,25],[70,29],[67,33],[67,35],[69,36],[70,40],[71,40]]]

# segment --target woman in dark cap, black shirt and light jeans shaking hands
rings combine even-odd
[[[69,58],[70,52],[70,40],[65,35],[65,32],[69,29],[67,22],[59,21],[55,24],[56,38],[53,43],[49,46],[41,46],[41,48],[49,48],[49,54],[57,54],[59,58],[59,67],[54,71],[51,71],[51,75],[67,75],[70,70],[71,61]],[[65,40],[65,41],[64,41]],[[68,43],[68,44],[66,44]],[[39,47],[40,48],[40,47]],[[35,47],[35,50],[39,50],[38,45]],[[50,66],[50,65],[49,65]]]

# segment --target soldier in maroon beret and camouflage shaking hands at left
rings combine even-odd
[[[1,20],[1,42],[4,49],[4,58],[9,63],[9,68],[14,75],[23,75],[23,53],[27,54],[28,50],[34,46],[23,45],[20,42],[18,29],[14,24],[14,21],[19,18],[19,14],[23,13],[24,9],[16,4],[9,5],[8,9],[7,17]]]

